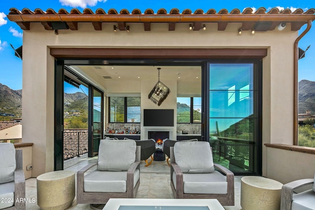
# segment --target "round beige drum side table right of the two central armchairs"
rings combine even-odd
[[[242,210],[280,210],[283,184],[264,177],[241,179]]]

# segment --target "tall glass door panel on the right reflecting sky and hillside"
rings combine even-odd
[[[260,73],[256,62],[209,63],[209,140],[214,161],[236,174],[260,174]]]

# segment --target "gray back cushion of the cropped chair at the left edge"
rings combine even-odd
[[[11,143],[0,144],[0,184],[14,181],[15,148]]]

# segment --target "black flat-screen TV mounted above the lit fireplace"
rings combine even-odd
[[[174,126],[173,109],[144,109],[144,126]]]

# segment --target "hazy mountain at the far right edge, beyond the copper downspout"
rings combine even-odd
[[[299,114],[305,114],[306,110],[311,110],[315,114],[315,82],[301,80],[299,82]]]

